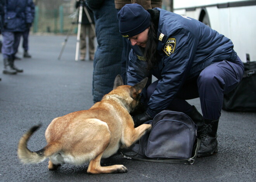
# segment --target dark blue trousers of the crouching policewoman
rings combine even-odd
[[[209,65],[198,77],[187,80],[170,103],[168,109],[189,113],[192,106],[186,101],[200,98],[204,119],[219,119],[224,94],[232,91],[242,80],[244,65],[240,58],[234,62],[220,61]],[[156,89],[156,82],[147,88],[148,99]]]

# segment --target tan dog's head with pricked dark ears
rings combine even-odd
[[[107,95],[120,100],[121,104],[125,105],[128,112],[131,112],[140,102],[140,93],[147,84],[148,78],[144,78],[139,83],[130,86],[123,85],[123,80],[120,75],[117,75],[114,81],[114,87]],[[105,97],[105,96],[104,96]]]

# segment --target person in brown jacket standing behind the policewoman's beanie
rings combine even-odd
[[[162,8],[162,0],[115,0],[115,7],[117,9],[117,12],[120,11],[124,5],[129,3],[137,3],[141,5],[145,10],[152,9],[152,8]],[[122,51],[122,60],[121,60],[121,76],[124,80],[124,84],[127,84],[127,77],[126,73],[128,70],[129,65],[129,54],[131,51],[131,44],[128,39],[123,37],[123,51]],[[149,79],[150,80],[150,79]]]

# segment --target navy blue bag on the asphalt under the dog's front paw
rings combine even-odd
[[[144,158],[124,155],[125,158],[163,163],[194,163],[200,140],[197,139],[197,127],[189,116],[165,110],[149,122],[152,122],[150,133],[142,136],[139,144],[130,148]]]

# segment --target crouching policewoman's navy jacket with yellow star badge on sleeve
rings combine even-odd
[[[132,46],[127,73],[128,85],[134,85],[151,74],[159,79],[148,102],[147,113],[151,117],[168,107],[185,80],[199,75],[214,62],[236,58],[234,45],[227,37],[198,20],[159,8],[156,10],[160,11],[158,65],[147,71],[140,47]]]

